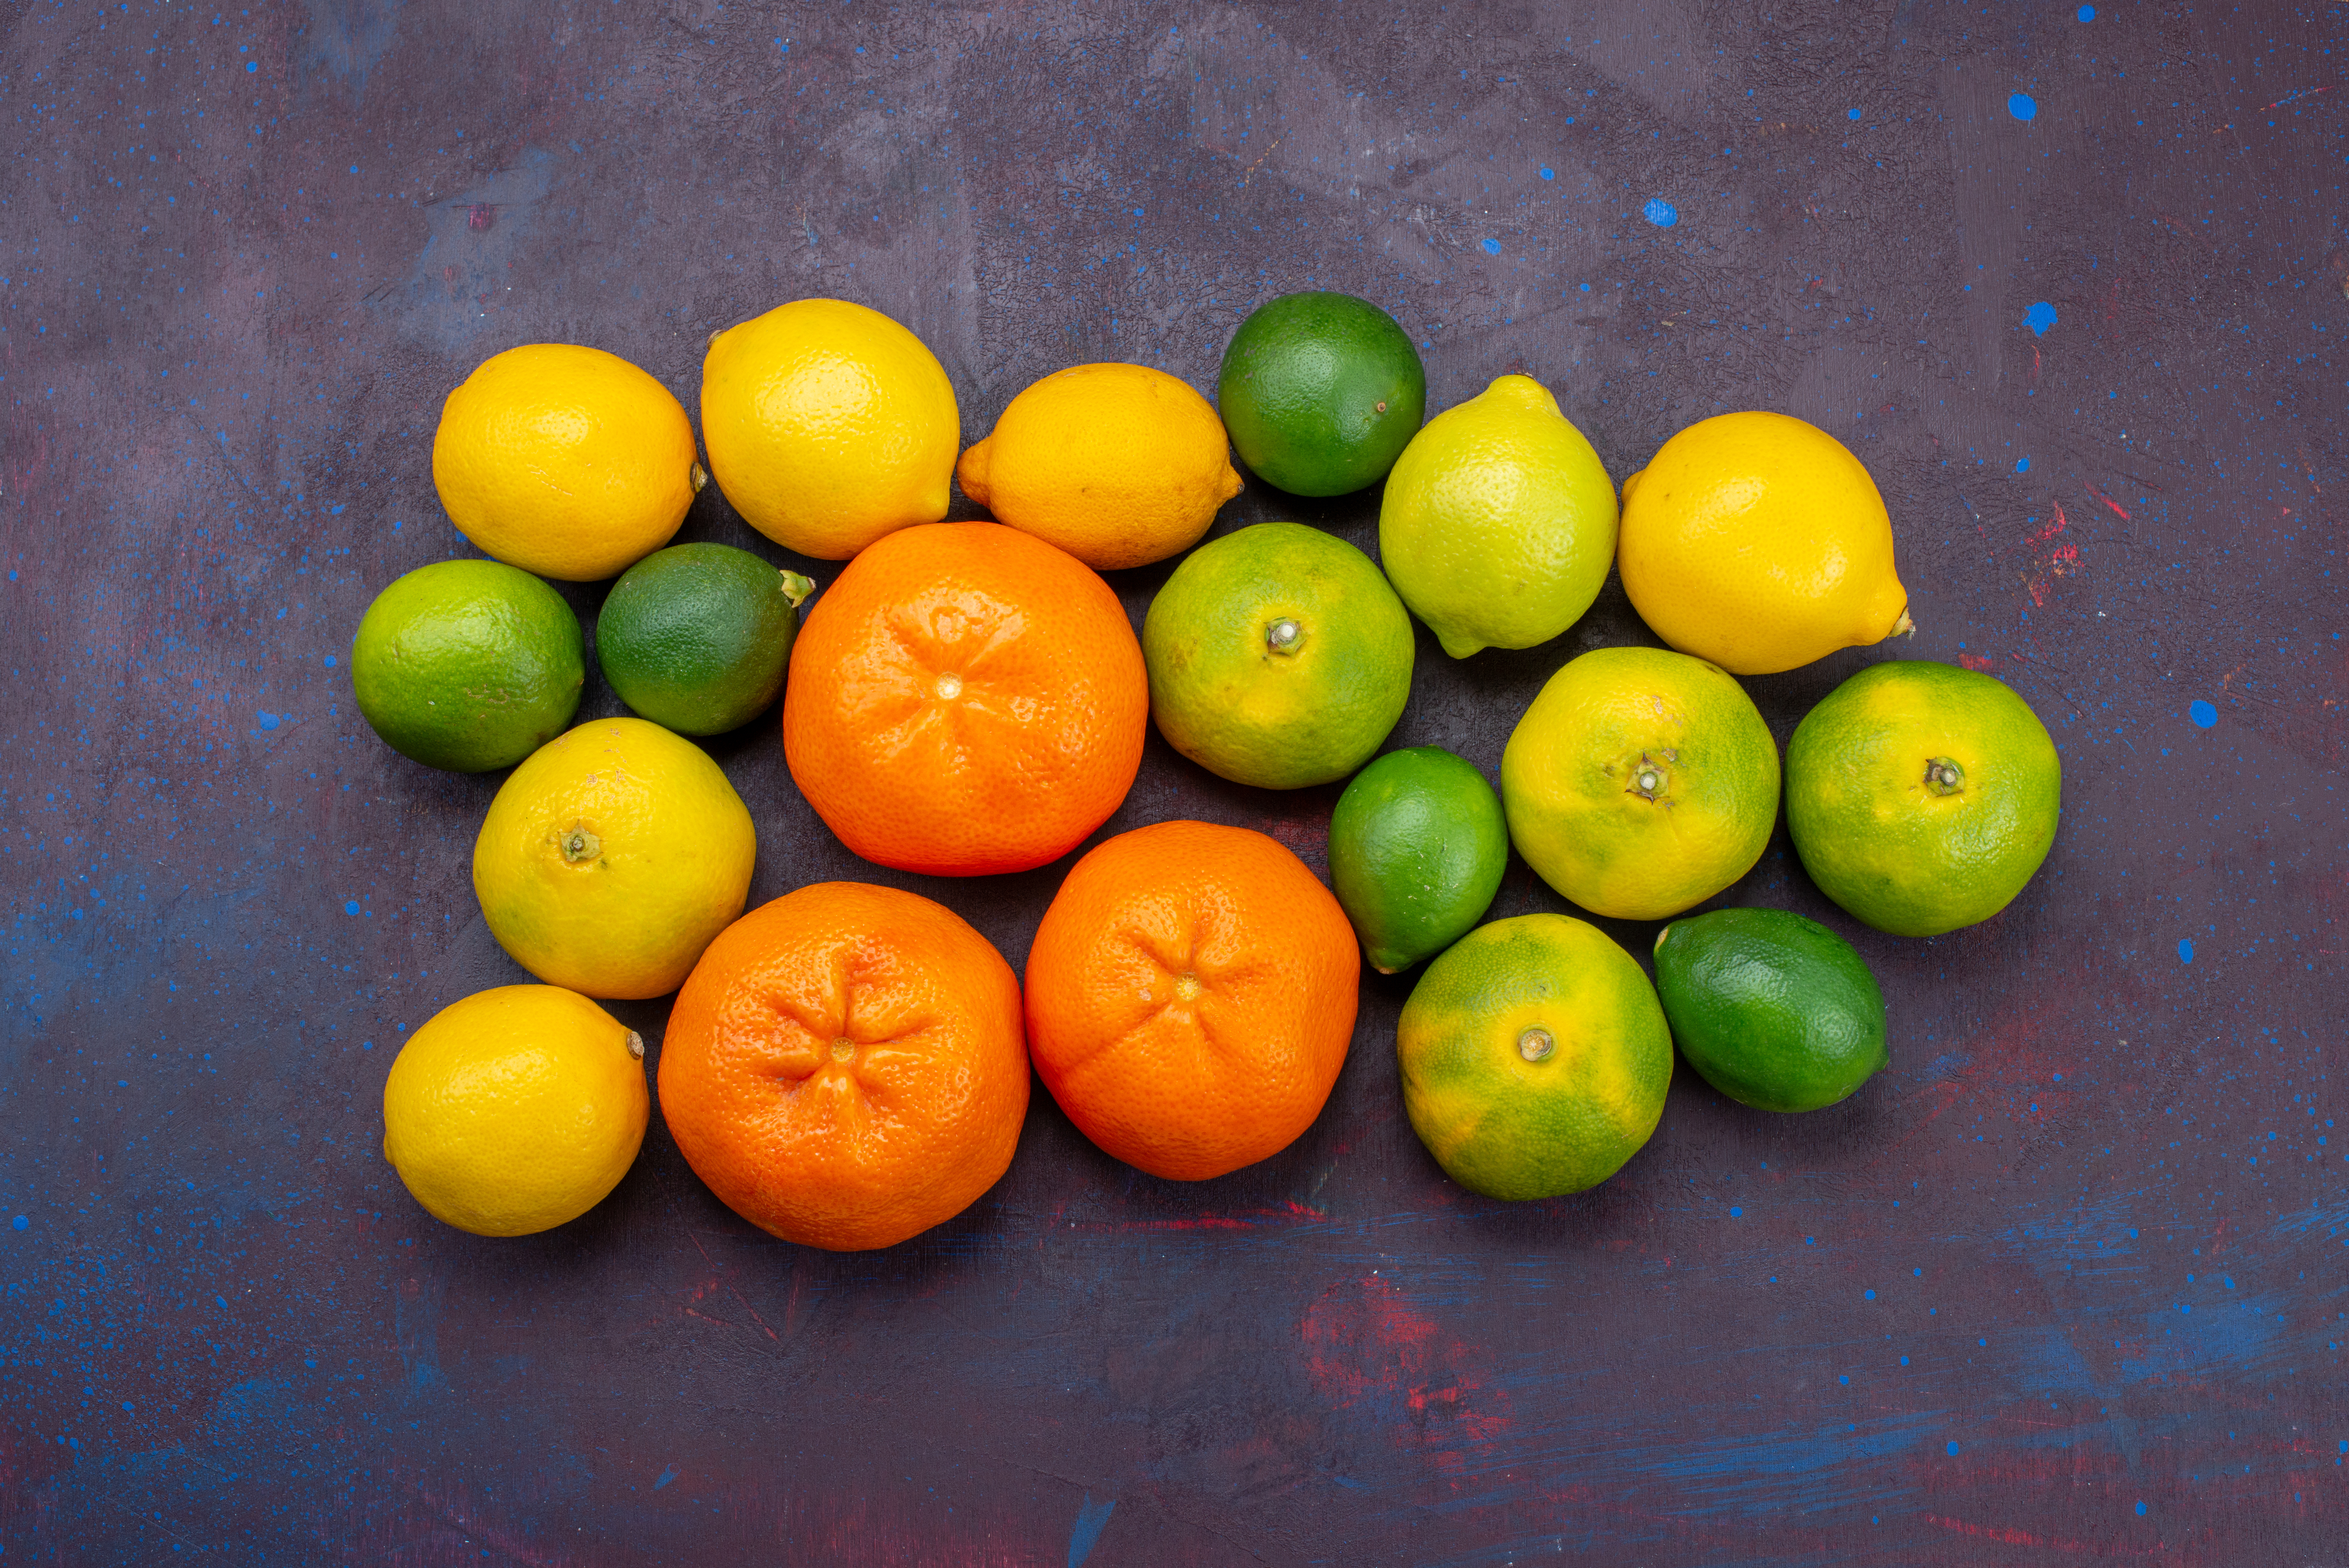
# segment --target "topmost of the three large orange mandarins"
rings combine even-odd
[[[867,545],[792,644],[782,752],[848,849],[940,877],[1024,872],[1109,820],[1151,689],[1125,607],[998,522]]]

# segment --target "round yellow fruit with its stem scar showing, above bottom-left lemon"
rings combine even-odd
[[[749,811],[702,748],[646,719],[592,719],[489,802],[472,891],[540,980],[665,997],[742,912],[754,853]]]

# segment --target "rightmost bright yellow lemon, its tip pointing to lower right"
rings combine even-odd
[[[1788,414],[1719,414],[1668,440],[1623,480],[1616,564],[1658,637],[1731,675],[1914,630],[1877,482]]]

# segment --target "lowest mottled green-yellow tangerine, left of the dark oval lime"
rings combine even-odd
[[[1445,1175],[1496,1199],[1597,1187],[1640,1152],[1672,1034],[1640,964],[1597,926],[1517,914],[1419,976],[1395,1025],[1402,1107]]]

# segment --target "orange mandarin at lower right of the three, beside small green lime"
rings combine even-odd
[[[1360,950],[1304,860],[1214,823],[1156,823],[1069,872],[1029,947],[1029,1051],[1118,1159],[1205,1180],[1278,1154],[1330,1100]]]

